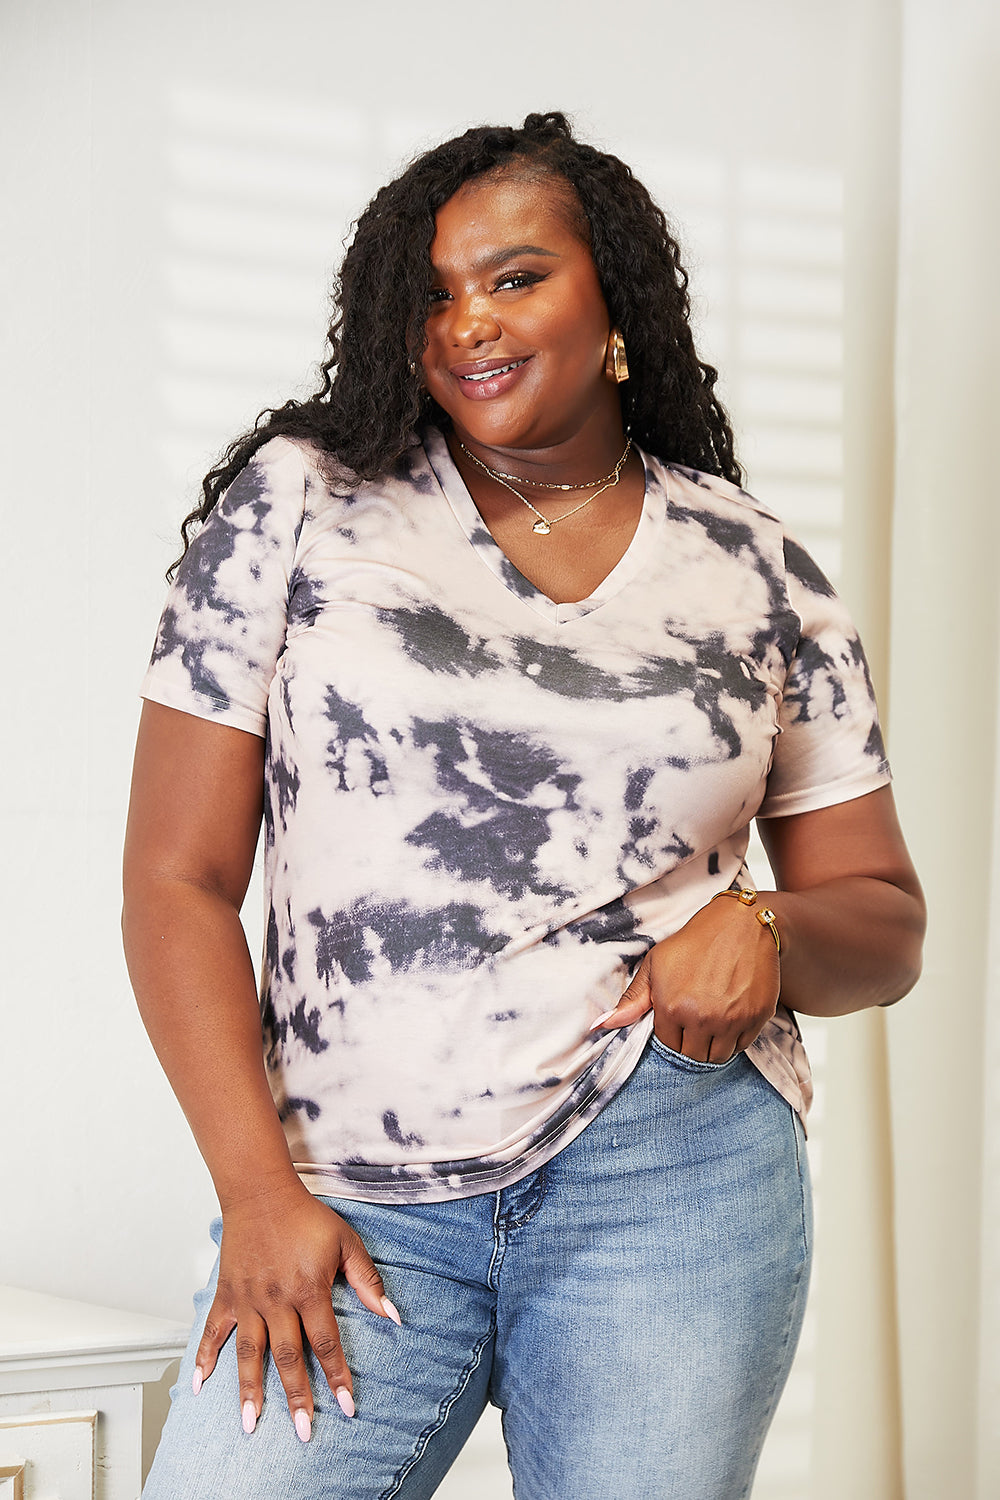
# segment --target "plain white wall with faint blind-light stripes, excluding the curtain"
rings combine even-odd
[[[837,572],[844,195],[885,236],[892,76],[864,94],[883,135],[849,126],[892,24],[891,0],[7,0],[0,1281],[186,1318],[207,1268],[211,1188],[120,957],[135,694],[177,522],[321,354],[352,214],[469,123],[574,114],[687,230],[751,486]],[[865,326],[880,262],[853,264]],[[768,1494],[801,1500],[789,1420]]]

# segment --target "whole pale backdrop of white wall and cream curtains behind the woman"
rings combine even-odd
[[[688,246],[750,488],[862,626],[933,908],[903,1006],[808,1030],[820,1250],[756,1496],[1000,1492],[996,8],[4,0],[0,46],[0,1281],[189,1316],[213,1194],[117,933],[177,522],[309,386],[373,189],[562,108]]]

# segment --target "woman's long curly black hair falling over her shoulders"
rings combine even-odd
[[[694,350],[688,276],[663,212],[625,162],[574,140],[567,117],[553,111],[529,114],[520,129],[466,130],[418,156],[375,195],[334,285],[319,390],[262,411],[253,430],[229,446],[183,522],[184,550],[192,526],[268,438],[309,438],[337,466],[375,478],[414,434],[448,424],[420,375],[435,214],[469,180],[505,171],[555,178],[564,189],[561,207],[591,246],[612,326],[628,351],[622,390],[633,441],[669,462],[742,483],[729,417],[715,396],[718,372]]]

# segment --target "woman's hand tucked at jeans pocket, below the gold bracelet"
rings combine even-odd
[[[652,1008],[664,1046],[697,1062],[729,1062],[771,1020],[778,988],[771,932],[739,902],[709,902],[649,950],[594,1029],[631,1026]]]

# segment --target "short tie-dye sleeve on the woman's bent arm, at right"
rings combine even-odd
[[[868,663],[850,615],[808,552],[787,537],[784,561],[789,602],[801,628],[759,818],[834,807],[892,778]]]

